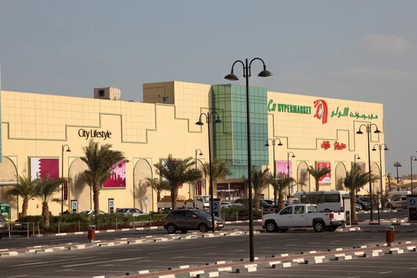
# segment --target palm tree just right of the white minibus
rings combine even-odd
[[[370,172],[362,173],[358,165],[353,166],[350,171],[346,172],[344,183],[345,188],[350,191],[350,214],[352,215],[352,222],[358,222],[356,211],[357,190],[378,179],[379,177],[376,174],[371,174]]]

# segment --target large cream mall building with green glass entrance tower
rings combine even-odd
[[[92,208],[92,193],[81,178],[87,169],[80,159],[90,139],[111,143],[126,154],[100,193],[100,208],[136,207],[156,211],[156,194],[145,179],[160,178],[154,164],[167,158],[195,157],[197,167],[208,162],[208,126],[196,125],[202,113],[215,111],[222,123],[211,122],[213,158],[227,163],[233,174],[218,181],[214,192],[222,199],[247,196],[246,95],[243,85],[206,85],[186,82],[161,82],[143,85],[143,102],[122,100],[118,88],[96,88],[94,97],[63,97],[28,92],[1,91],[1,202],[10,202],[12,219],[22,210],[22,199],[8,196],[6,190],[17,174],[31,177],[70,177],[65,188],[65,208],[83,211]],[[217,117],[214,118],[216,120]],[[250,126],[252,165],[258,169],[275,163],[277,172],[296,179],[291,193],[314,190],[313,177],[306,174],[310,165],[326,165],[332,172],[320,180],[322,190],[343,189],[346,170],[357,163],[368,170],[366,126],[376,124],[382,133],[370,133],[370,148],[384,143],[382,104],[344,99],[328,99],[250,87]],[[268,138],[272,140],[265,147]],[[281,142],[282,145],[278,145]],[[70,148],[71,152],[67,152]],[[64,151],[63,151],[64,150]],[[199,152],[198,152],[199,153]],[[289,153],[289,155],[288,155]],[[295,157],[293,157],[295,156]],[[379,152],[370,152],[371,169],[379,174]],[[382,152],[384,165],[384,152]],[[384,167],[382,168],[384,173]],[[304,185],[297,185],[302,182]],[[379,181],[376,185],[379,186]],[[208,194],[208,178],[183,184],[181,198]],[[366,194],[366,191],[363,191]],[[58,196],[59,195],[59,196]],[[60,197],[58,194],[57,197]],[[170,195],[169,192],[162,194]],[[273,198],[272,188],[264,192]],[[51,204],[51,213],[60,213],[60,204]],[[29,202],[28,213],[40,214],[39,199]]]

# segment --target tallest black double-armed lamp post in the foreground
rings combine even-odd
[[[251,65],[254,60],[260,60],[263,64],[263,71],[259,72],[258,76],[260,77],[268,77],[272,76],[268,70],[266,70],[266,65],[261,58],[253,58],[250,63],[248,60],[245,60],[243,63],[241,60],[236,60],[233,65],[231,66],[230,74],[224,76],[224,79],[237,81],[238,76],[234,74],[234,65],[236,63],[241,63],[243,65],[243,77],[246,79],[246,126],[247,126],[247,188],[249,190],[249,253],[250,253],[250,261],[255,261],[255,252],[254,252],[254,215],[253,215],[253,207],[252,207],[252,158],[251,158],[251,149],[250,149],[250,111],[249,111],[249,78],[252,75],[251,73]]]

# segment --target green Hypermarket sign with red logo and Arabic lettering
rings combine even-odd
[[[316,113],[313,115],[313,117],[316,117],[318,120],[322,121],[322,124],[327,123],[327,118],[329,115],[329,108],[327,106],[327,102],[324,99],[317,99],[316,101],[313,101],[314,108],[316,108]],[[359,112],[350,112],[349,107],[344,107],[343,112],[339,111],[339,106],[337,107],[336,111],[332,111],[332,114],[330,117],[353,117],[355,120],[358,119],[377,119],[378,115],[366,115],[361,114]],[[297,114],[306,114],[311,115],[311,106],[301,106],[301,105],[295,105],[295,104],[277,104],[274,103],[272,99],[268,101],[268,112],[284,112],[284,113],[297,113]]]

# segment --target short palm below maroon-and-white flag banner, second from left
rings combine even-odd
[[[35,195],[40,197],[42,202],[42,216],[45,227],[49,227],[49,202],[63,202],[62,199],[54,197],[60,193],[61,184],[68,181],[67,178],[51,178],[49,174],[45,177],[35,179]]]

